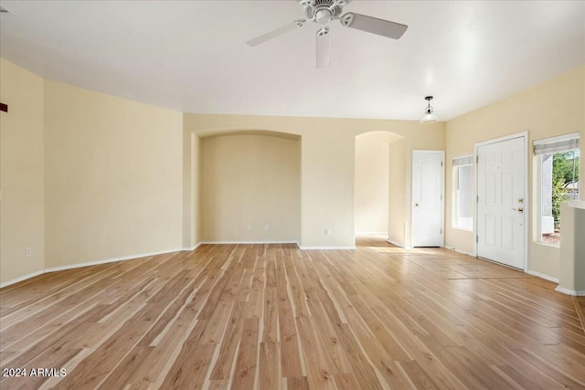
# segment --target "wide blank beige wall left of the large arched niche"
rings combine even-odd
[[[182,248],[182,114],[44,92],[46,268]]]

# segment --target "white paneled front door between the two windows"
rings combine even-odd
[[[477,256],[524,269],[525,137],[477,147]]]

